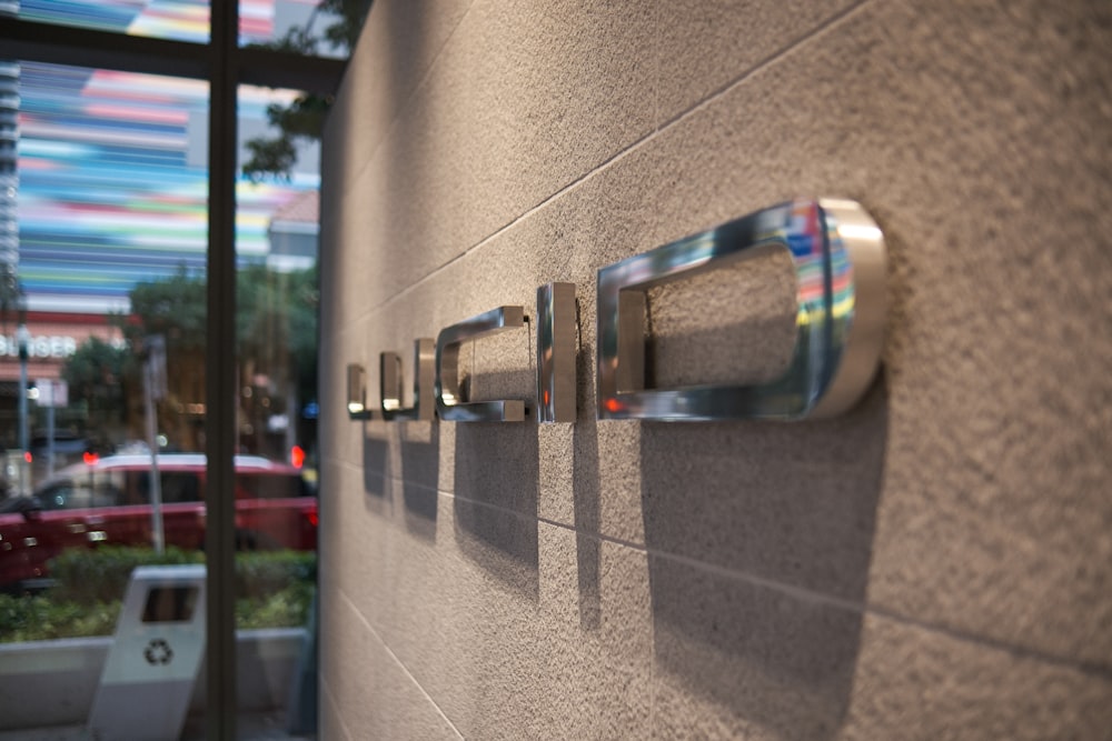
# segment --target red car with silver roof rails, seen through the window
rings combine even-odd
[[[301,472],[236,455],[236,540],[247,550],[316,550],[317,499]],[[205,542],[205,455],[158,457],[167,545]],[[47,562],[69,548],[150,545],[150,455],[110,455],[63,469],[31,497],[0,507],[0,589],[44,583]]]

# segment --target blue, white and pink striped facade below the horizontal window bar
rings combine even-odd
[[[291,94],[241,88],[241,128]],[[207,97],[192,80],[22,64],[19,273],[30,309],[126,309],[136,281],[203,268]],[[265,254],[270,216],[318,181],[237,183],[238,254]]]

